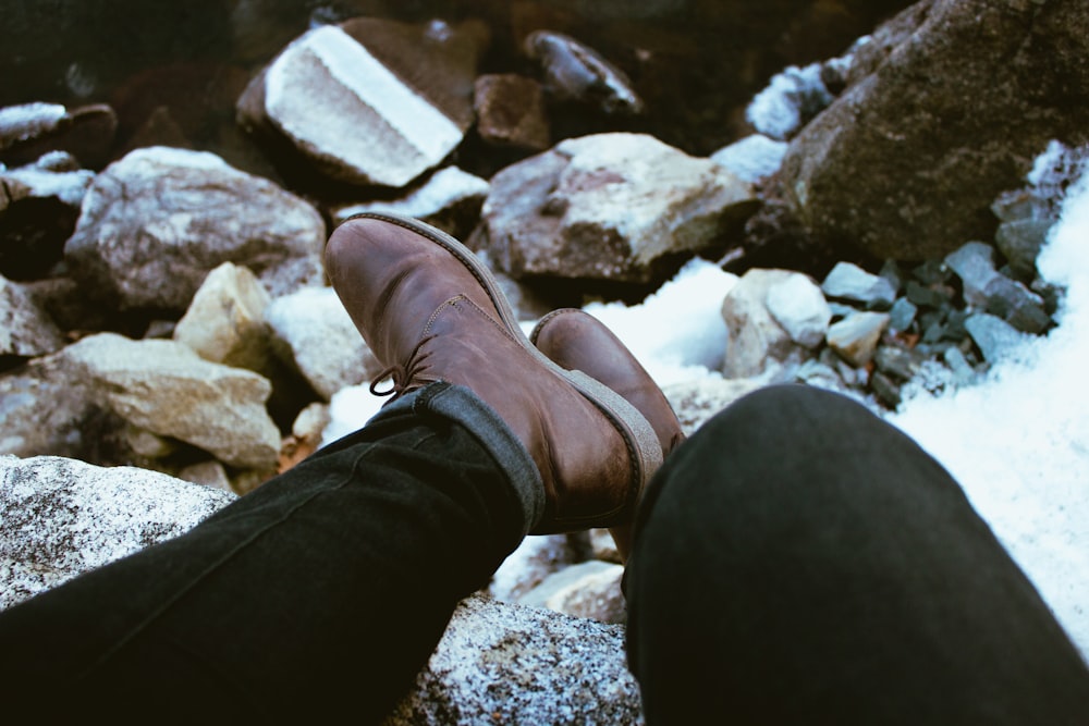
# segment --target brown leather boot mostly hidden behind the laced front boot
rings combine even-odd
[[[684,441],[681,421],[662,390],[627,346],[594,316],[573,308],[555,310],[537,323],[529,340],[559,366],[586,373],[635,406],[653,427],[663,456]],[[632,551],[631,525],[610,532],[626,562]]]

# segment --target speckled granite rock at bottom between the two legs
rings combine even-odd
[[[384,726],[641,724],[624,628],[474,596]]]

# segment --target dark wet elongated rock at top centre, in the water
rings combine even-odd
[[[540,64],[544,90],[552,98],[578,101],[607,114],[643,112],[643,100],[624,72],[571,36],[536,30],[526,36],[523,49]]]

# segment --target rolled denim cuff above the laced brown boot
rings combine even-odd
[[[451,420],[480,442],[511,483],[525,514],[523,537],[544,512],[544,482],[537,463],[491,406],[464,385],[438,382],[413,391],[382,408],[371,420],[411,413]]]

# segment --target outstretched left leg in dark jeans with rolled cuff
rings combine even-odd
[[[0,613],[3,710],[377,722],[542,496],[506,427],[432,384],[188,533]]]

